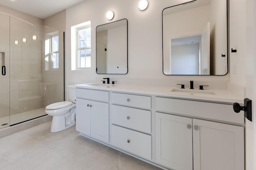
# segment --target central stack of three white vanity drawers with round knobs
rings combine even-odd
[[[112,93],[111,102],[110,143],[151,160],[151,97]]]

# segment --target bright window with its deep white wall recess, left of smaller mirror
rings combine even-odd
[[[91,68],[91,21],[71,27],[71,70]]]

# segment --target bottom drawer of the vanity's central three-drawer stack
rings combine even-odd
[[[151,160],[151,135],[111,125],[112,145]]]

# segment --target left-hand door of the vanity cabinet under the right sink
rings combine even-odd
[[[192,170],[192,119],[156,112],[156,162],[175,170]]]

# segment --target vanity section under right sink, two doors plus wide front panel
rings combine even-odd
[[[236,114],[229,105],[157,97],[156,110],[167,112],[156,112],[157,163],[175,170],[244,170],[244,127],[180,116],[227,121],[225,114]],[[229,121],[240,123],[239,117]]]

